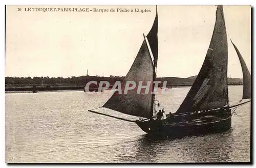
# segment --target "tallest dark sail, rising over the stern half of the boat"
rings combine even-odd
[[[215,109],[228,104],[227,36],[222,6],[202,68],[176,113]]]

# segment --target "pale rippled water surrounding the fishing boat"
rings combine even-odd
[[[157,94],[159,108],[175,113],[190,87]],[[229,86],[230,105],[242,98],[243,86]],[[111,91],[6,93],[5,159],[8,163],[191,163],[250,161],[250,103],[239,106],[231,129],[177,139],[154,138],[136,123],[90,113]],[[244,102],[246,100],[243,100]],[[137,117],[105,108],[105,114]]]

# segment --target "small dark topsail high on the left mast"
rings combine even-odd
[[[151,47],[152,54],[153,54],[153,57],[154,57],[155,67],[157,67],[157,59],[158,59],[158,37],[157,37],[157,33],[158,33],[158,16],[157,16],[157,12],[156,12],[156,17],[155,17],[155,21],[153,23],[153,26],[152,26],[150,32],[146,36],[147,40],[148,40],[148,43],[150,43],[150,47]]]

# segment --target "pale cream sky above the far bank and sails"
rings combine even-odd
[[[22,11],[17,11],[21,8]],[[26,12],[25,8],[148,9],[151,12]],[[158,6],[157,76],[197,75],[215,6]],[[251,8],[223,6],[228,37],[251,69]],[[7,6],[5,76],[125,76],[154,22],[155,6]],[[250,71],[251,72],[251,71]],[[242,78],[228,39],[228,77]]]

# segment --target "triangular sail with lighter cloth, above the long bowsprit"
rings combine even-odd
[[[139,85],[139,81],[143,81],[143,86],[147,84],[147,81],[151,81],[150,92],[148,92],[148,94],[137,94],[137,88],[129,90],[127,94],[119,94],[118,91],[116,91],[113,96],[103,105],[103,107],[110,108],[127,115],[144,118],[152,117],[151,91],[154,66],[151,57],[150,48],[144,39],[131,69],[121,84],[123,93],[126,81],[135,81],[136,86]]]

